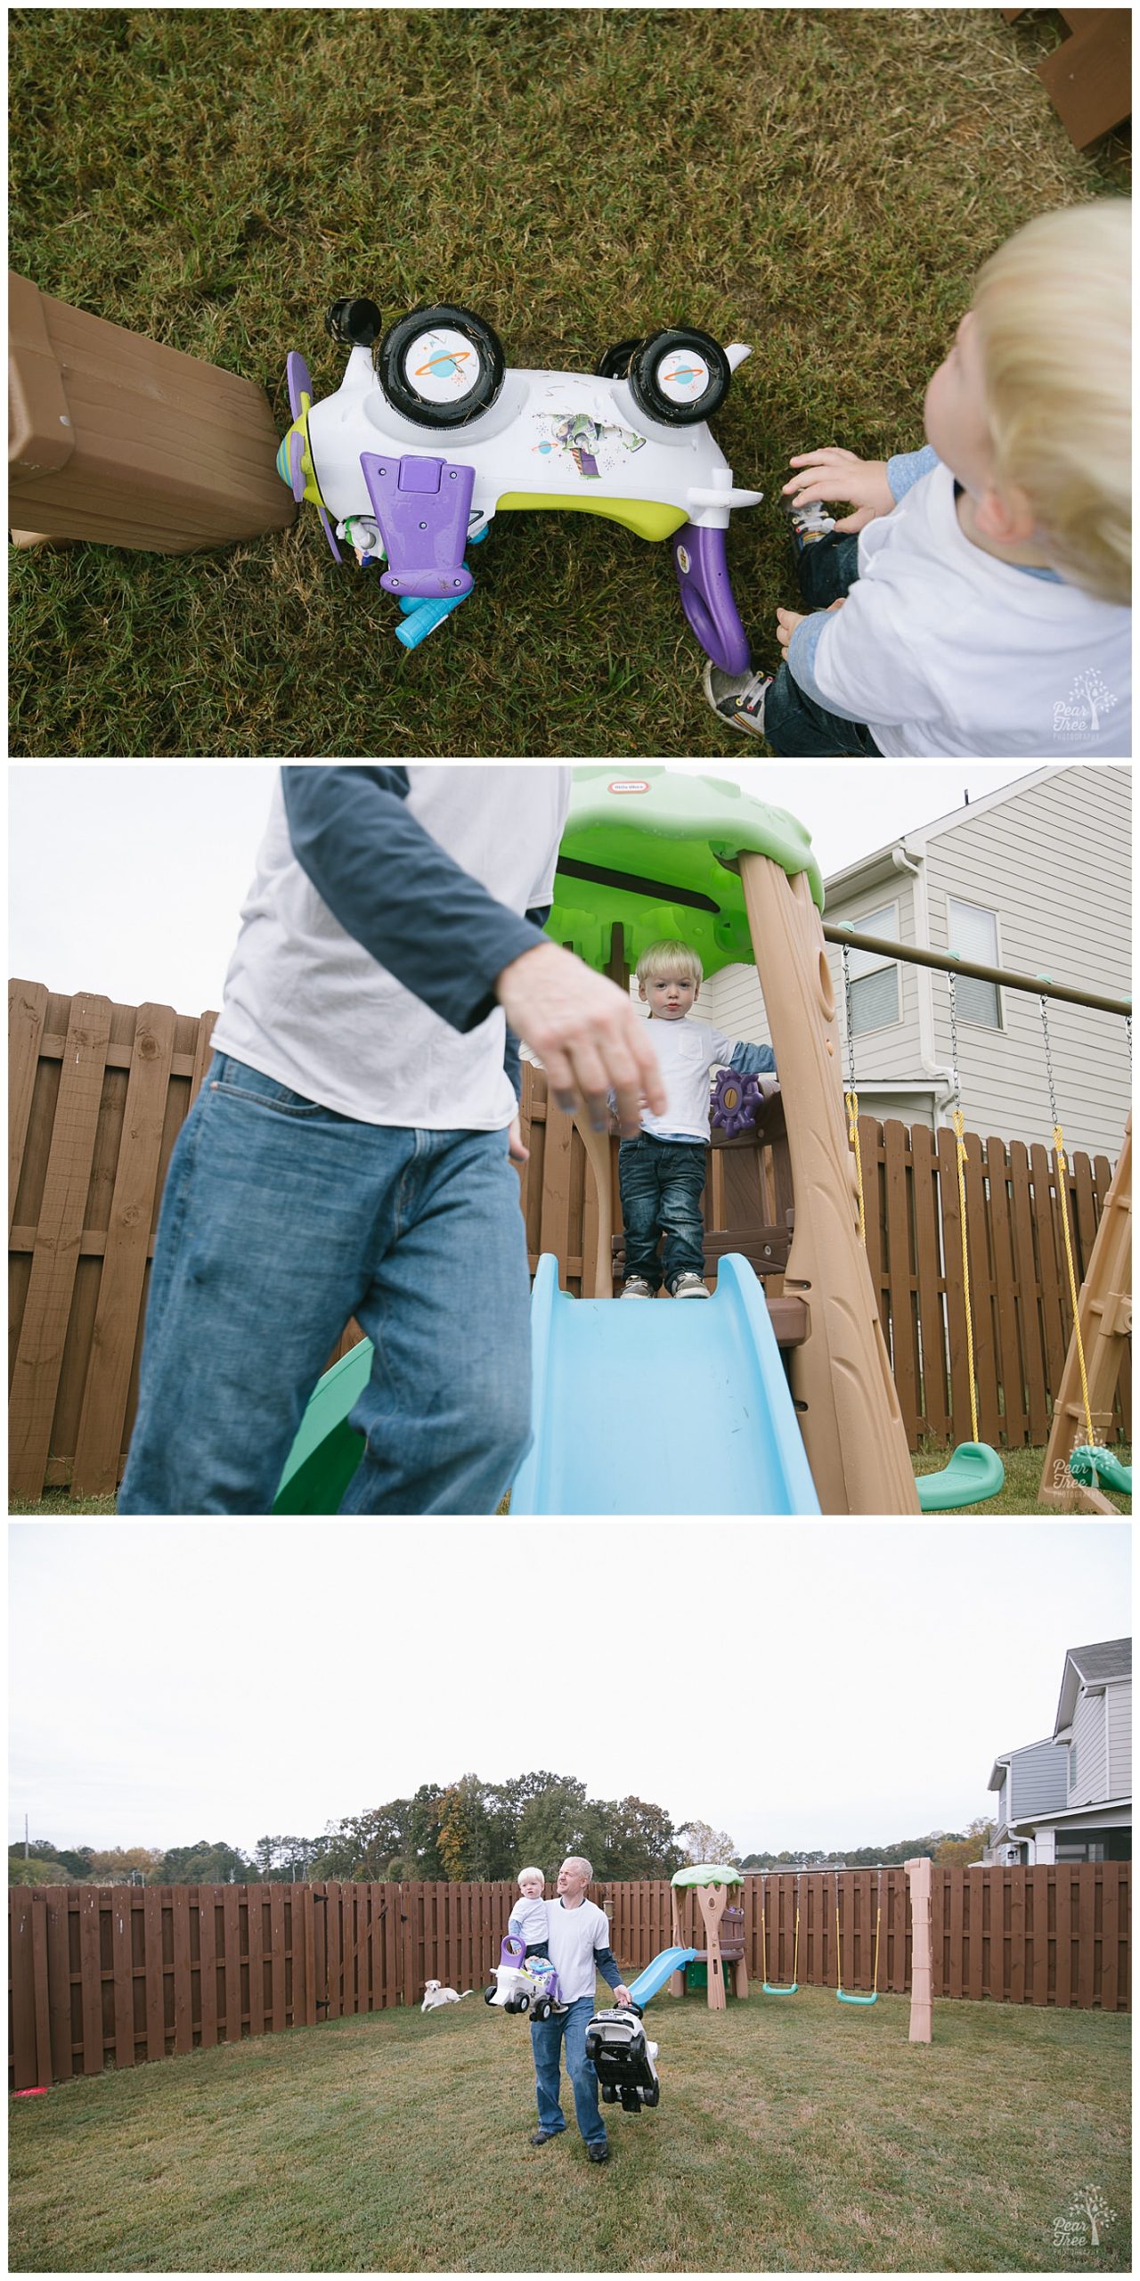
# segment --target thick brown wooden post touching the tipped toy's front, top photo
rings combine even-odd
[[[16,536],[192,554],[283,531],[264,388],[52,301],[9,274]]]

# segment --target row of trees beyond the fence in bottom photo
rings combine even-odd
[[[725,1861],[741,1870],[862,1868],[910,1861],[976,1859],[987,1823],[967,1832],[930,1832],[894,1845],[846,1852],[736,1854],[732,1836],[700,1818],[673,1823],[643,1797],[591,1797],[572,1775],[529,1772],[508,1781],[463,1775],[424,1781],[413,1797],[328,1823],[319,1836],[262,1836],[253,1852],[223,1838],[166,1850],[148,1845],[59,1848],[32,1838],[9,1848],[11,1884],[308,1884],[315,1880],[408,1880],[479,1884],[518,1877],[536,1861],[547,1873],[565,1854],[586,1854],[595,1877],[673,1877],[686,1861]]]

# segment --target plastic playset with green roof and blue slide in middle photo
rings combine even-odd
[[[602,974],[627,972],[661,935],[691,942],[707,976],[755,963],[780,1081],[725,1072],[714,1120],[732,1134],[732,1145],[757,1120],[759,1140],[775,1134],[771,1156],[775,1163],[780,1152],[780,1166],[777,1193],[764,1211],[748,1200],[727,1223],[727,1236],[716,1239],[711,1300],[622,1307],[613,1298],[620,1275],[613,1140],[584,1115],[575,1120],[593,1177],[595,1209],[586,1225],[595,1243],[584,1259],[581,1298],[561,1289],[563,1261],[552,1252],[538,1259],[531,1448],[511,1487],[513,1517],[917,1515],[976,1503],[1001,1487],[1001,1458],[978,1442],[974,1398],[971,1439],[937,1474],[914,1480],[860,1232],[855,1070],[846,1093],[821,910],[812,842],[784,810],[732,782],[673,776],[657,764],[638,776],[593,764],[575,771],[547,935]],[[962,1138],[958,1147],[967,1255]],[[743,1168],[746,1156],[734,1163]],[[750,1198],[741,1172],[734,1177],[736,1193]],[[1094,1444],[1110,1428],[1131,1328],[1129,1193],[1124,1150],[1083,1296],[1072,1273],[1074,1341],[1081,1332],[1088,1353],[1076,1353],[1062,1387],[1065,1446],[1049,1451],[1065,1476],[1058,1494],[1090,1510],[1104,1510],[1106,1458]],[[759,1218],[764,1225],[752,1225]],[[969,1255],[962,1289],[971,1346],[967,1266]],[[319,1380],[276,1512],[337,1512],[360,1460],[353,1405],[369,1371],[372,1346],[360,1341]],[[638,1401],[661,1373],[682,1373],[689,1387],[668,1437],[652,1403]],[[974,1355],[967,1380],[974,1389]],[[1083,1455],[1088,1448],[1092,1455]]]

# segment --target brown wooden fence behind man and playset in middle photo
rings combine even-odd
[[[214,1015],[9,985],[9,1487],[114,1494],[137,1403],[141,1323],[162,1184],[210,1063]],[[759,1140],[716,1136],[709,1261],[743,1250],[780,1296],[791,1168],[777,1106]],[[522,1209],[531,1268],[554,1252],[568,1289],[593,1257],[597,1204],[581,1140],[524,1065],[531,1163]],[[860,1120],[866,1248],[910,1446],[969,1432],[953,1136]],[[613,1163],[616,1163],[613,1143]],[[987,1442],[1044,1444],[1072,1307],[1044,1145],[967,1134],[974,1346]],[[616,1175],[613,1175],[616,1177]],[[1076,1273],[1108,1191],[1108,1156],[1067,1179]],[[618,1223],[620,1225],[620,1223]],[[271,1334],[271,1325],[267,1325]],[[337,1353],[358,1332],[349,1325]],[[333,1357],[331,1357],[333,1359]],[[1131,1432],[1129,1378],[1117,1394]]]

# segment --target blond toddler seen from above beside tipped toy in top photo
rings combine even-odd
[[[780,755],[1126,757],[1129,310],[1124,198],[1017,230],[926,390],[926,449],[793,456],[809,614],[777,611],[775,675],[705,668],[714,712]],[[855,513],[828,527],[821,500]]]

